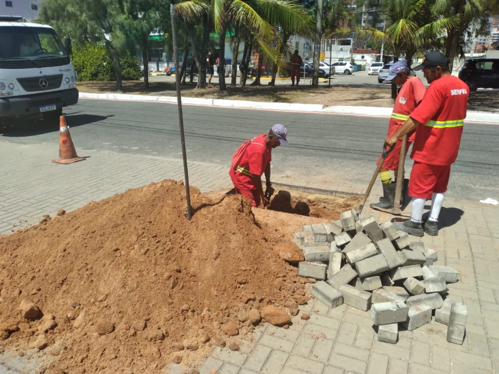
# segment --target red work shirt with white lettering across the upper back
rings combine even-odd
[[[433,81],[423,101],[411,113],[421,123],[416,130],[411,159],[431,165],[451,165],[458,157],[468,86],[458,77],[444,75]]]

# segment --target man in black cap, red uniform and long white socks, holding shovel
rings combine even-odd
[[[392,146],[401,136],[417,128],[409,181],[412,214],[407,221],[394,225],[414,236],[423,236],[424,232],[438,235],[438,217],[451,165],[458,156],[469,88],[461,79],[451,75],[449,60],[439,51],[426,52],[423,62],[414,70],[423,70],[430,86],[402,128],[385,140],[387,146]],[[423,222],[423,208],[428,198],[432,199],[432,205],[428,219]]]

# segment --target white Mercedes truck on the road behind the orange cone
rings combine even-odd
[[[0,16],[0,123],[58,119],[63,107],[78,102],[70,40],[65,48],[52,27],[13,18]]]

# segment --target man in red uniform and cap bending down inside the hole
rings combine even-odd
[[[251,201],[251,206],[257,207],[263,202],[268,204],[261,184],[261,175],[265,174],[266,189],[273,193],[270,182],[270,161],[272,159],[272,148],[280,145],[287,146],[287,129],[281,124],[272,126],[268,134],[260,134],[253,138],[246,146],[242,155],[238,156],[238,149],[233,157],[240,157],[238,165],[231,168],[229,176],[236,189],[236,193],[242,194]],[[243,144],[243,147],[245,145]],[[243,150],[242,150],[243,151]]]

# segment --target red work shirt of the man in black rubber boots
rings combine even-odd
[[[409,119],[409,115],[416,109],[421,100],[423,100],[425,91],[426,88],[421,79],[409,77],[406,80],[395,99],[393,112],[388,123],[388,136],[395,134],[404,122]],[[415,133],[416,131],[413,131],[407,135],[408,142],[414,142]]]

